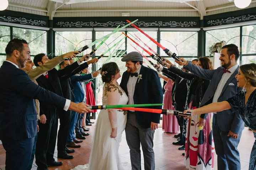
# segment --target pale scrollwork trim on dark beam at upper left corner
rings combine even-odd
[[[32,26],[41,26],[41,27],[47,27],[48,26],[48,23],[44,20],[33,20],[33,19],[26,19],[26,18],[23,18],[23,17],[1,16],[0,21],[10,22],[10,23],[27,24],[27,25],[32,25]]]

